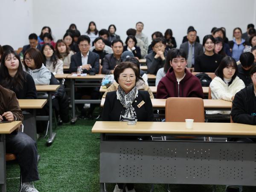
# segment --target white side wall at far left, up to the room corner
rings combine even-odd
[[[28,44],[33,31],[32,0],[0,0],[0,45]]]

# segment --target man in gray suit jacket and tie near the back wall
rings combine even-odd
[[[187,67],[194,67],[195,58],[204,53],[203,46],[196,42],[196,30],[190,29],[187,33],[189,41],[180,45],[180,49],[186,52]]]

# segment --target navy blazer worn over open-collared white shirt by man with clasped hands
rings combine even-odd
[[[89,51],[87,64],[90,64],[92,68],[90,70],[84,69],[83,73],[90,73],[90,72],[93,72],[96,74],[99,73],[99,55],[98,54]],[[77,52],[75,55],[71,56],[69,72],[76,73],[77,67],[81,65],[82,65],[81,52]]]

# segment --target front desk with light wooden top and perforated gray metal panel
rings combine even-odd
[[[255,143],[106,139],[108,135],[134,135],[134,132],[136,135],[150,135],[149,132],[156,135],[161,131],[162,135],[237,137],[242,134],[241,137],[255,137],[253,125],[194,123],[193,129],[188,130],[184,128],[185,123],[181,122],[137,122],[135,126],[126,124],[96,122],[93,127],[93,132],[102,132],[101,187],[102,183],[256,185]],[[102,126],[102,130],[99,126]],[[211,131],[213,126],[216,129]],[[104,129],[107,133],[103,133]]]

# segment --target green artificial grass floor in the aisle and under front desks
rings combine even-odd
[[[47,138],[38,139],[38,163],[40,180],[35,187],[39,192],[99,192],[99,134],[92,134],[95,121],[78,120],[54,130],[57,135],[51,146]],[[19,189],[20,169],[17,163],[7,163],[7,191]],[[149,192],[149,184],[135,184],[136,192]],[[113,192],[114,184],[108,184]],[[172,192],[211,192],[211,185],[170,185]],[[217,186],[216,192],[224,192],[225,186]],[[244,187],[243,192],[255,192],[256,187]],[[154,192],[166,192],[164,184],[154,185]]]

